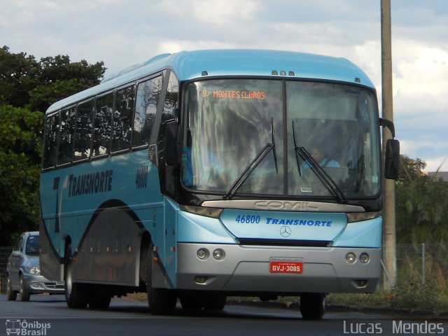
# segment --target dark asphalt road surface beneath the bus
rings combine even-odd
[[[117,298],[104,311],[69,309],[62,295],[32,295],[30,302],[0,295],[0,324],[0,335],[448,335],[447,320],[328,311],[321,321],[305,321],[296,309],[269,304],[199,314],[179,307],[172,316],[153,316],[146,302]]]

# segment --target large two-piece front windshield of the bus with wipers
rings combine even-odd
[[[364,87],[217,79],[184,97],[186,188],[337,202],[379,193],[377,104]]]

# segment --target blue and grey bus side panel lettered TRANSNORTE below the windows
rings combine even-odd
[[[51,279],[62,273],[57,269],[63,268],[66,239],[76,256],[75,279],[83,282],[138,286],[145,230],[163,251],[163,198],[148,151],[44,172],[41,198],[47,250],[59,254],[43,255]]]

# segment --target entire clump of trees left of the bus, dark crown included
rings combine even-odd
[[[38,181],[44,112],[50,104],[97,85],[103,62],[69,56],[36,61],[0,48],[0,245],[38,229]]]

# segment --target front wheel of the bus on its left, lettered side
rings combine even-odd
[[[153,315],[172,314],[176,309],[176,291],[168,288],[153,288],[153,244],[149,248],[148,270],[146,272],[146,292],[148,293],[149,311]]]

